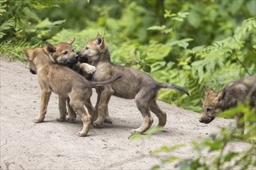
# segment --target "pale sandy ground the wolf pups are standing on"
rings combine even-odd
[[[158,102],[168,114],[164,131],[150,139],[130,141],[130,130],[138,128],[142,117],[133,100],[112,97],[109,114],[113,124],[91,128],[88,137],[75,135],[77,124],[57,122],[57,95],[52,94],[46,119],[34,124],[40,107],[37,76],[25,63],[1,59],[1,170],[2,169],[149,169],[161,162],[149,152],[162,145],[189,144],[220,131],[233,120],[217,118],[211,124],[199,123],[199,114]],[[95,104],[96,94],[92,102]],[[154,124],[157,118],[154,116]],[[232,148],[247,148],[241,143]],[[192,158],[191,148],[180,148],[169,155]],[[173,169],[173,164],[164,168]]]

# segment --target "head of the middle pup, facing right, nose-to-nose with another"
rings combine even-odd
[[[71,65],[78,63],[78,55],[74,53],[74,49],[71,44],[74,42],[74,38],[67,40],[67,42],[60,42],[56,46],[47,44],[47,52],[54,60],[54,63],[61,65]]]

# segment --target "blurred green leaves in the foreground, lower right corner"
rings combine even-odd
[[[251,169],[256,168],[256,120],[255,109],[239,104],[234,109],[228,110],[227,114],[235,115],[241,111],[245,114],[247,120],[247,132],[244,132],[234,127],[222,128],[220,134],[211,134],[209,138],[204,138],[202,141],[192,141],[192,148],[197,152],[195,158],[178,158],[172,156],[171,152],[185,145],[174,145],[171,147],[162,146],[155,151],[150,151],[150,154],[159,154],[161,152],[169,152],[171,156],[162,159],[161,164],[154,165],[151,169],[159,169],[163,165],[170,162],[175,162],[175,168],[178,169]],[[235,135],[239,134],[240,139],[249,141],[251,146],[244,151],[234,151],[228,149],[230,144],[237,142]]]

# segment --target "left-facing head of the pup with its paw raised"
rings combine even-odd
[[[99,60],[110,61],[109,55],[106,54],[109,54],[109,50],[102,36],[97,36],[96,39],[89,40],[85,48],[81,49],[78,53],[81,62],[86,60],[88,63],[92,63],[92,65],[98,63]]]

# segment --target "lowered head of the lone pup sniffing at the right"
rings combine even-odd
[[[209,124],[213,119],[223,112],[223,97],[225,90],[222,90],[220,93],[216,93],[213,90],[210,90],[208,87],[204,87],[206,97],[202,103],[202,117],[200,122]]]

